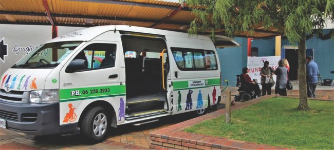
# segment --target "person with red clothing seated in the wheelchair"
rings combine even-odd
[[[254,91],[254,96],[260,97],[261,96],[261,91],[260,87],[256,82],[254,82],[250,76],[248,75],[248,68],[243,68],[243,74],[240,75],[240,82],[242,85],[245,85],[249,91]]]

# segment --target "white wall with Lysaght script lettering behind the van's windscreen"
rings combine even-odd
[[[58,27],[58,36],[82,29],[81,27]],[[0,41],[6,45],[7,55],[0,59],[0,76],[35,47],[52,38],[52,26],[0,24]],[[3,47],[2,47],[3,48]]]

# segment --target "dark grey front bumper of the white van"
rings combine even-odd
[[[59,125],[59,103],[11,103],[0,101],[0,118],[7,129],[28,135],[74,133],[77,123]]]

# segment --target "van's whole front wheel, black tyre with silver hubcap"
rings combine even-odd
[[[80,132],[87,142],[98,143],[105,139],[109,124],[106,110],[97,106],[85,114]]]

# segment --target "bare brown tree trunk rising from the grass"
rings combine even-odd
[[[306,91],[306,36],[302,35],[298,42],[298,80],[299,80],[299,105],[298,109],[308,111]]]

